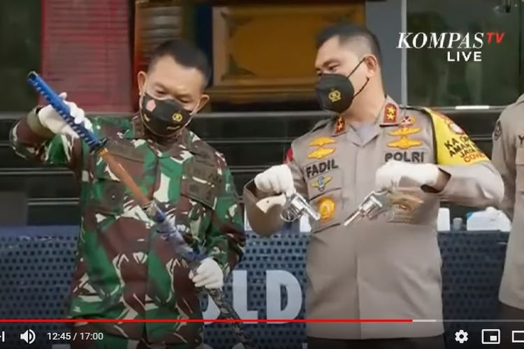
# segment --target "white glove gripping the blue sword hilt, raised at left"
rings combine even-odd
[[[92,131],[93,126],[89,119],[86,119],[85,112],[79,108],[73,102],[67,102],[66,92],[59,94],[59,97],[64,100],[71,110],[71,116],[75,118],[75,124],[84,124],[85,128]],[[40,123],[45,128],[48,128],[55,135],[70,135],[73,138],[78,138],[78,135],[73,131],[71,126],[69,126],[64,119],[53,109],[51,105],[46,105],[41,110],[38,111],[38,119]]]

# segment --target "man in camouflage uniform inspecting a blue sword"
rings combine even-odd
[[[209,99],[203,94],[209,75],[202,52],[170,40],[153,52],[147,73],[138,73],[138,115],[89,120],[66,102],[77,124],[110,140],[110,153],[142,193],[163,207],[189,246],[208,255],[196,273],[52,107],[37,107],[13,127],[10,139],[20,156],[66,165],[81,184],[69,317],[201,319],[197,288],[221,288],[242,257],[245,232],[231,172],[221,154],[186,128]],[[77,322],[71,345],[198,348],[202,331],[201,322]],[[85,332],[103,332],[103,340],[86,340],[89,335],[80,335]]]

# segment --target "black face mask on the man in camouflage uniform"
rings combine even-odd
[[[140,117],[155,135],[170,137],[187,126],[193,115],[173,99],[157,99],[146,93],[142,97]]]

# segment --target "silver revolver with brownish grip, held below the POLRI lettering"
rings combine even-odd
[[[344,226],[359,221],[361,218],[373,219],[382,214],[394,205],[414,209],[421,205],[423,201],[416,196],[406,193],[392,193],[391,191],[372,191],[358,205],[357,209],[351,213],[344,221]]]

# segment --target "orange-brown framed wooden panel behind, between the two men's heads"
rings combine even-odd
[[[212,98],[314,98],[316,34],[336,22],[363,24],[365,14],[363,2],[310,3],[214,6]]]

